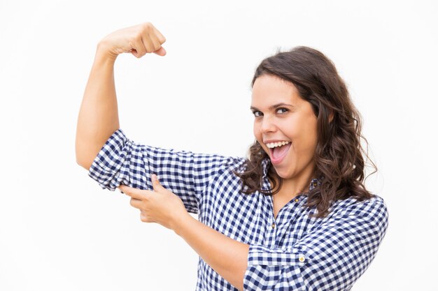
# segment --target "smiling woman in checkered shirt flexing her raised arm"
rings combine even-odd
[[[99,42],[78,163],[102,188],[131,196],[141,221],[194,248],[197,290],[350,290],[376,255],[388,213],[362,184],[360,118],[332,62],[309,47],[264,59],[252,82],[249,158],[193,154],[137,144],[119,128],[115,59],[164,56],[164,42],[150,23]]]

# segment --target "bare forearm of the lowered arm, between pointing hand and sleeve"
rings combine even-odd
[[[178,222],[174,231],[222,278],[243,290],[243,276],[248,265],[248,244],[213,230],[190,214]]]

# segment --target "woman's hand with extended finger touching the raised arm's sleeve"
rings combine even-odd
[[[190,216],[183,201],[161,186],[155,174],[152,174],[153,191],[120,185],[120,191],[131,197],[131,206],[140,209],[140,218],[144,223],[160,223],[175,230],[179,221]]]

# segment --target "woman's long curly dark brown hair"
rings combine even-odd
[[[360,113],[353,105],[346,84],[337,73],[333,62],[318,50],[299,46],[264,59],[255,70],[251,88],[257,77],[262,75],[280,77],[294,84],[299,96],[311,103],[317,117],[318,144],[314,155],[314,176],[322,181],[307,193],[306,207],[316,207],[316,217],[324,217],[336,200],[348,197],[358,200],[371,198],[373,194],[363,184],[365,161],[362,154],[374,168],[371,174],[377,168],[360,144],[360,138],[367,142],[361,135]],[[241,178],[243,193],[260,191],[265,195],[274,195],[280,191],[283,179],[278,176],[271,163],[267,176],[272,181],[273,188],[269,191],[262,190],[262,161],[265,158],[269,156],[255,140],[249,149],[245,170],[234,172]]]

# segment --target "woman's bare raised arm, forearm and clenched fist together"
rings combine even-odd
[[[76,128],[76,162],[85,169],[90,169],[99,149],[120,127],[114,83],[115,59],[123,52],[137,58],[148,52],[164,56],[166,50],[161,45],[165,41],[153,24],[145,22],[114,31],[97,45]]]

